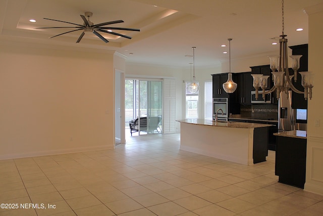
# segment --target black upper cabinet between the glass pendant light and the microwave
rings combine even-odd
[[[237,103],[243,105],[251,104],[251,91],[254,91],[252,87],[251,72],[237,73]]]

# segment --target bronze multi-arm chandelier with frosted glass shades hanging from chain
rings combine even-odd
[[[289,75],[288,70],[288,57],[287,57],[287,39],[285,38],[287,35],[284,34],[284,0],[282,0],[282,35],[280,35],[281,39],[279,40],[280,44],[280,56],[269,56],[270,58],[270,68],[272,69],[272,74],[274,75],[274,87],[268,91],[265,91],[267,87],[267,79],[269,76],[265,76],[262,74],[251,74],[253,77],[253,87],[256,90],[256,99],[258,98],[259,88],[262,89],[262,98],[264,99],[265,94],[273,93],[276,90],[276,98],[280,98],[281,92],[286,93],[286,97],[289,97],[289,90],[296,92],[298,94],[304,94],[304,99],[307,100],[312,98],[312,77],[311,72],[304,71],[299,72],[302,76],[301,84],[304,87],[304,92],[296,89],[292,83],[292,78],[294,77],[294,81],[297,81],[297,70],[299,69],[299,59],[302,55],[293,55],[290,56],[292,58],[292,69],[294,70],[294,75]],[[279,60],[279,65],[278,65]]]

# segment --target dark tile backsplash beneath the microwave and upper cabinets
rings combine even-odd
[[[278,104],[241,105],[241,117],[278,119]]]

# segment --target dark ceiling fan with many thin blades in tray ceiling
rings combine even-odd
[[[69,24],[73,24],[73,25],[76,25],[76,26],[73,26],[73,27],[40,27],[40,28],[76,28],[75,30],[67,31],[67,32],[64,32],[64,33],[61,33],[61,34],[57,34],[57,35],[52,36],[52,37],[60,36],[62,34],[67,34],[67,33],[73,32],[73,31],[83,30],[83,32],[81,33],[81,35],[79,36],[79,38],[76,41],[77,43],[80,42],[82,37],[84,36],[84,34],[88,33],[88,32],[92,32],[93,34],[98,36],[101,40],[103,40],[104,42],[107,43],[107,42],[109,42],[109,40],[105,39],[100,33],[98,33],[98,31],[108,33],[108,34],[118,35],[118,36],[125,37],[125,38],[128,38],[128,39],[131,39],[132,37],[124,35],[124,34],[119,34],[119,33],[113,32],[112,30],[140,31],[140,29],[136,29],[136,28],[104,27],[105,25],[111,25],[111,24],[115,24],[115,23],[122,23],[122,22],[124,22],[123,20],[103,22],[103,23],[99,23],[99,24],[94,25],[90,21],[90,17],[92,17],[93,14],[91,12],[85,12],[84,15],[80,15],[81,18],[84,21],[83,25],[79,25],[79,24],[71,23],[71,22],[65,22],[65,21],[61,21],[61,20],[53,20],[53,19],[44,18],[46,20],[64,22],[64,23],[69,23]],[[87,19],[85,17],[87,17]],[[40,28],[35,28],[35,29],[40,29]],[[52,37],[49,37],[49,38],[52,38]]]

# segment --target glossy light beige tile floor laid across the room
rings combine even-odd
[[[111,150],[2,160],[0,203],[18,209],[0,215],[323,214],[323,196],[277,182],[273,151],[247,166],[179,146],[179,134],[134,136]]]

